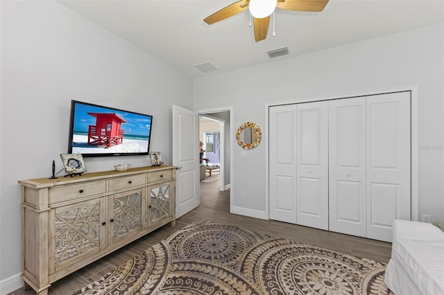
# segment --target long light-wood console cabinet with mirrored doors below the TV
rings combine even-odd
[[[51,283],[146,233],[176,226],[176,167],[133,168],[22,185],[22,278]]]

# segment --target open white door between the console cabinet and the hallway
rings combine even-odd
[[[176,171],[176,218],[200,204],[198,114],[173,105],[173,165]]]

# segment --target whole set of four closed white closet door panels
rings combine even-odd
[[[270,107],[270,218],[390,242],[411,220],[410,95]]]

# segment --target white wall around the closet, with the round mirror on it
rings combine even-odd
[[[234,140],[235,130],[246,121],[265,129],[267,104],[418,85],[419,216],[444,220],[443,36],[443,24],[428,26],[199,78],[194,80],[194,105],[203,109],[232,105]],[[264,216],[264,144],[249,150],[246,159],[241,152],[234,145],[232,205],[237,212]],[[241,191],[244,198],[239,197]]]

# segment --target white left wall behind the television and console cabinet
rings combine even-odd
[[[191,109],[193,83],[56,1],[1,1],[0,282],[21,271],[17,180],[62,168],[71,99],[153,115],[151,150],[171,164],[171,105]],[[148,159],[85,159],[89,172],[116,163]]]

